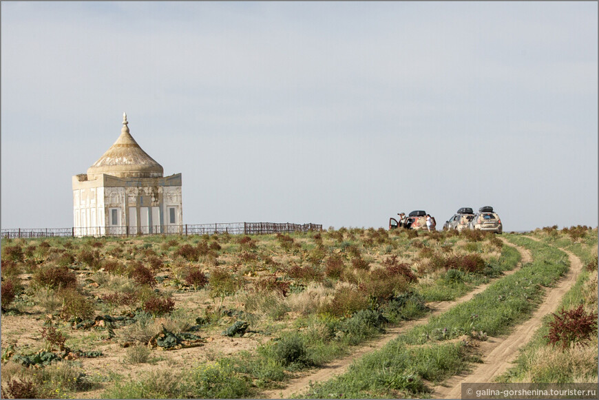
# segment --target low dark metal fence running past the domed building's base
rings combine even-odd
[[[153,227],[72,227],[41,229],[2,229],[3,238],[47,238],[57,236],[138,236],[138,235],[204,235],[229,233],[231,235],[261,235],[322,231],[321,224],[291,224],[275,222],[229,222],[216,224],[185,224]]]

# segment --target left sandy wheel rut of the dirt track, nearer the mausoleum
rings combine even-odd
[[[512,244],[510,242],[507,242],[507,240],[505,240],[504,238],[501,238],[501,240],[504,244],[507,244],[507,246],[511,246],[517,249],[518,252],[521,254],[520,262],[518,262],[516,267],[514,267],[510,271],[504,271],[503,275],[501,275],[500,277],[496,277],[494,280],[491,280],[490,282],[477,287],[470,293],[467,293],[462,297],[459,297],[459,299],[455,299],[453,301],[448,302],[428,303],[427,306],[432,308],[432,312],[430,314],[425,315],[424,317],[421,317],[419,319],[407,321],[404,324],[401,324],[401,326],[393,326],[391,328],[386,328],[386,332],[383,335],[381,335],[375,340],[368,341],[366,342],[366,344],[357,347],[350,355],[334,361],[330,361],[328,364],[325,364],[324,366],[318,368],[313,372],[307,372],[306,374],[300,377],[291,379],[291,381],[289,381],[288,385],[284,389],[266,390],[260,393],[260,398],[288,399],[289,397],[291,397],[292,394],[303,392],[304,390],[308,389],[311,382],[327,381],[328,379],[331,379],[336,375],[341,375],[356,359],[359,359],[360,357],[375,350],[379,350],[380,348],[388,344],[390,341],[392,341],[392,339],[395,339],[397,335],[406,332],[406,330],[413,328],[414,326],[426,324],[428,323],[428,320],[430,318],[437,317],[437,315],[445,313],[445,311],[449,310],[453,306],[456,306],[463,302],[467,302],[468,300],[472,299],[472,297],[474,297],[475,295],[485,291],[485,289],[496,280],[499,280],[507,275],[512,275],[513,273],[518,271],[523,264],[532,262],[532,256],[530,251],[520,246],[516,246],[515,244]]]

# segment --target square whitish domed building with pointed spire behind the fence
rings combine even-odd
[[[74,235],[182,232],[181,174],[137,144],[123,114],[120,136],[87,173],[73,176]]]

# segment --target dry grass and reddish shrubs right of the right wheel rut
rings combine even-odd
[[[563,297],[558,312],[547,315],[501,382],[597,382],[597,233],[586,227],[537,229],[532,237],[571,251],[585,266]]]

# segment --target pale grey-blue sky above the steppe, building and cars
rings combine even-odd
[[[72,227],[123,112],[185,224],[598,224],[596,2],[2,1],[1,227]]]

